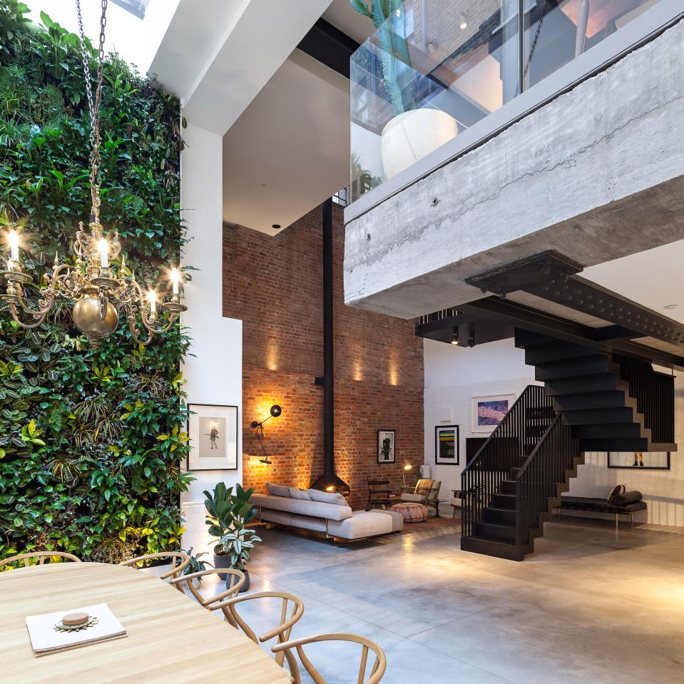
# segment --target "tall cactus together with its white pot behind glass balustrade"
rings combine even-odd
[[[349,0],[352,7],[372,19],[377,29],[382,82],[392,105],[392,118],[380,133],[380,155],[385,178],[392,178],[459,133],[456,120],[432,107],[418,108],[414,100],[415,72],[409,44],[396,30],[404,0]],[[405,33],[405,32],[403,32]]]

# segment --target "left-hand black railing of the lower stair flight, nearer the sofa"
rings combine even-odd
[[[553,400],[541,385],[529,385],[461,473],[463,504],[461,536],[471,536],[473,525],[481,520],[482,509],[499,492],[501,482],[511,477],[511,469],[521,465],[521,456],[541,439]],[[535,431],[535,427],[537,428]]]

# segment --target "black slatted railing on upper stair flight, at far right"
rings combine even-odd
[[[643,414],[644,427],[650,428],[651,441],[673,444],[675,441],[675,379],[658,373],[650,363],[613,354],[620,366],[620,379],[629,384],[629,393],[636,399],[637,410]]]

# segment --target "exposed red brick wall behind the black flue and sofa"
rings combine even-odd
[[[307,487],[322,472],[323,392],[314,384],[323,374],[321,220],[317,208],[275,238],[224,228],[223,315],[243,320],[243,481],[257,491],[266,481]],[[404,464],[423,461],[423,352],[411,321],[344,306],[337,205],[333,221],[335,464],[357,509],[367,477],[387,475],[399,491]],[[283,412],[265,425],[268,466],[250,422],[271,404]],[[377,465],[377,429],[397,431],[393,465]]]

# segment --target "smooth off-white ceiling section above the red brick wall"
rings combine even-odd
[[[349,81],[295,50],[223,137],[223,220],[275,235],[347,183]]]

